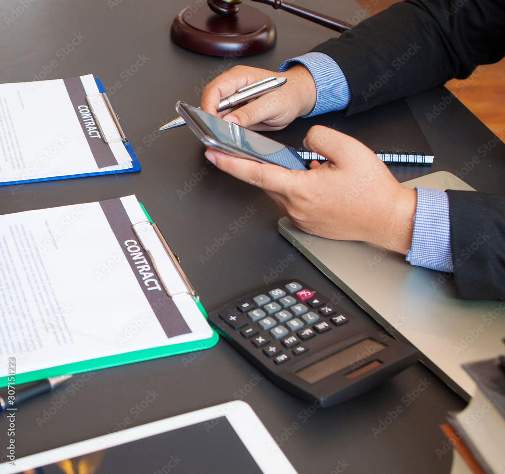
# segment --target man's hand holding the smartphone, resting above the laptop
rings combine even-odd
[[[417,193],[401,185],[359,141],[315,126],[304,145],[328,159],[309,171],[206,156],[231,175],[261,187],[302,230],[328,239],[365,241],[406,254],[411,248]]]

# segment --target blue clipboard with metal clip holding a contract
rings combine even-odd
[[[4,96],[6,109],[0,112],[0,128],[5,131],[0,134],[0,186],[140,171],[140,163],[102,81],[91,74],[0,84],[0,95]],[[61,113],[66,120],[58,117],[53,123],[51,118],[44,121],[40,120],[42,116],[33,117],[41,109],[53,114],[53,118]],[[66,141],[68,130],[72,134]],[[65,141],[65,146],[54,143],[56,136]],[[76,150],[85,155],[82,163],[75,160]],[[8,174],[2,170],[8,170]]]

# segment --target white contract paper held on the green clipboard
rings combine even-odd
[[[121,203],[127,220],[146,220],[134,196]],[[190,296],[173,300],[188,331],[167,337],[122,244],[99,203],[0,216],[0,376],[9,357],[22,373],[212,337]],[[164,268],[166,252],[151,253],[162,277],[178,285]]]

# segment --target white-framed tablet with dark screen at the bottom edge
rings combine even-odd
[[[0,464],[0,473],[296,474],[242,401],[135,426]]]

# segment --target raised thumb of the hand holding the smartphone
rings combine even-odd
[[[344,168],[347,164],[355,167],[367,165],[378,160],[377,155],[360,141],[322,125],[316,125],[308,131],[304,146],[337,168]]]

